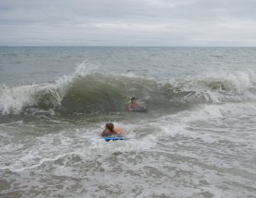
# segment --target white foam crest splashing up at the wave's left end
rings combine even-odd
[[[76,67],[73,74],[58,78],[55,83],[31,84],[23,86],[9,87],[3,85],[0,87],[0,113],[18,114],[24,107],[36,105],[43,94],[51,94],[51,102],[59,106],[65,96],[68,85],[80,76],[87,76],[96,71],[94,66],[83,62]]]

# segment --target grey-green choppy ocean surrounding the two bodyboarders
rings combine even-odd
[[[255,165],[256,48],[0,47],[2,198],[252,198]]]

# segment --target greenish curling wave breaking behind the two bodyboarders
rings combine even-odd
[[[55,83],[1,86],[0,114],[126,111],[132,96],[144,101],[150,110],[241,102],[256,99],[255,79],[253,72],[236,72],[159,81],[130,74],[97,74],[95,68],[83,63]]]

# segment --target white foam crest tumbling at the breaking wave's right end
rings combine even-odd
[[[256,95],[250,92],[256,83],[253,71],[211,72],[186,79],[172,79],[170,82],[181,90],[196,91],[198,94],[194,97],[202,94],[207,102],[256,99]]]

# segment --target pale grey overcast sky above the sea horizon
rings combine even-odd
[[[256,46],[256,0],[0,0],[0,45]]]

